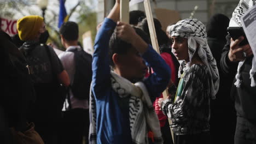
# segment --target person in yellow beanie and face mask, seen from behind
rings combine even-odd
[[[59,123],[62,99],[57,91],[60,84],[70,84],[67,71],[53,48],[41,45],[40,36],[46,31],[43,17],[30,15],[17,21],[19,38],[24,42],[20,51],[26,57],[28,69],[36,91],[36,101],[32,105],[29,120],[45,143],[59,143]],[[42,37],[41,37],[42,38]],[[43,43],[45,39],[43,39]],[[65,99],[65,98],[64,98]]]

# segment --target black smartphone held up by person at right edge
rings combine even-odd
[[[243,27],[228,27],[227,31],[234,41],[241,36],[245,38],[239,44],[240,46],[248,44],[248,40],[246,38],[245,32],[243,31]]]

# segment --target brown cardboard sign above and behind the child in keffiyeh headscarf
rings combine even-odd
[[[166,31],[168,25],[174,24],[181,19],[179,12],[176,10],[155,9],[155,15],[161,22],[163,31]]]

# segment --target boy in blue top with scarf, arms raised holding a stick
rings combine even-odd
[[[147,43],[147,34],[118,22],[119,11],[117,0],[95,39],[90,143],[149,143],[149,131],[162,143],[152,100],[166,88],[170,68]],[[147,79],[145,61],[154,69]]]

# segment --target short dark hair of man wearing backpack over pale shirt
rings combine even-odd
[[[60,34],[63,36],[64,39],[71,41],[71,40],[78,40],[78,25],[75,22],[68,21],[64,22],[60,28]]]

